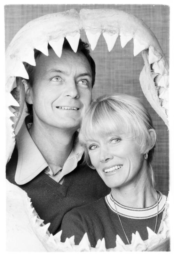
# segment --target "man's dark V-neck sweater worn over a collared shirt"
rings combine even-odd
[[[6,178],[9,182],[25,190],[31,198],[33,207],[39,217],[47,224],[52,234],[60,230],[62,219],[66,212],[74,207],[93,202],[110,192],[95,170],[78,163],[76,169],[64,176],[63,184],[59,184],[41,172],[30,182],[18,185],[15,182],[18,152],[15,147],[6,168]]]

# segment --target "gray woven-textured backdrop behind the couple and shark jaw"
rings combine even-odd
[[[169,7],[165,5],[6,5],[5,6],[5,44],[6,48],[17,31],[27,22],[48,14],[68,9],[117,8],[142,19],[156,35],[163,52],[169,60]],[[82,39],[86,42],[85,34]],[[168,194],[168,131],[163,120],[151,108],[144,97],[139,75],[143,68],[141,54],[133,57],[133,40],[122,49],[117,38],[111,52],[108,52],[101,35],[91,55],[96,63],[96,82],[93,97],[105,93],[126,93],[141,98],[150,112],[157,132],[153,170],[156,174],[157,189]]]

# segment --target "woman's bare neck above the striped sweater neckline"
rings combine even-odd
[[[111,188],[111,193],[117,202],[133,208],[145,208],[157,202],[156,190],[147,172],[138,181],[119,188]]]

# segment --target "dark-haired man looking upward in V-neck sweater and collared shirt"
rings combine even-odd
[[[82,166],[76,131],[92,100],[95,63],[81,40],[74,53],[64,41],[61,58],[35,51],[36,66],[25,64],[22,79],[30,115],[16,138],[7,179],[31,198],[50,233],[57,233],[66,212],[109,193],[95,170]]]

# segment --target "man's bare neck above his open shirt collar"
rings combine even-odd
[[[73,148],[74,131],[33,122],[29,133],[50,168],[63,167]]]

